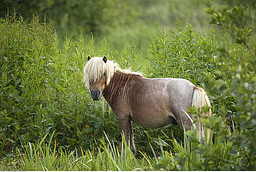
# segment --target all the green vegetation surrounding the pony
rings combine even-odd
[[[47,2],[44,8],[51,11],[58,0]],[[209,14],[212,27],[193,29],[183,24],[186,20],[181,15],[168,30],[163,2],[169,4],[160,0],[160,7],[155,4],[153,8],[150,3],[145,5],[146,1],[98,1],[97,6],[104,5],[106,10],[121,6],[109,10],[111,14],[102,10],[104,15],[95,16],[97,25],[104,27],[98,33],[89,28],[95,37],[83,32],[70,37],[70,28],[65,31],[55,23],[61,18],[58,15],[52,24],[66,37],[60,38],[54,27],[38,15],[24,20],[16,12],[10,16],[6,13],[0,23],[0,170],[256,170],[256,4],[234,0],[230,6],[216,7],[204,0],[198,5],[205,5],[206,12],[201,13]],[[72,8],[64,13],[63,20],[75,18],[72,9],[83,1],[66,1],[64,9],[66,3]],[[97,9],[90,5],[81,15],[93,20],[86,12]],[[166,10],[173,8],[175,13],[175,5],[180,4],[172,5],[166,5]],[[126,11],[122,10],[125,7]],[[140,14],[142,8],[148,9],[144,9],[147,15]],[[161,13],[157,9],[162,9]],[[38,8],[38,13],[42,11]],[[113,20],[120,13],[130,14],[130,18],[120,16],[126,21],[123,26]],[[135,33],[132,29],[159,26],[149,24],[153,14],[163,20],[164,29],[156,27],[155,33],[145,31],[142,37],[130,35],[133,41],[129,36],[120,38]],[[140,22],[133,24],[134,16]],[[79,23],[77,19],[71,21],[70,27]],[[88,21],[84,22],[78,28],[87,26]],[[97,43],[104,34],[106,39]],[[115,44],[127,46],[114,49]],[[209,122],[200,120],[214,134],[213,143],[179,126],[151,130],[133,123],[138,151],[133,155],[127,146],[124,149],[116,116],[107,104],[92,101],[83,86],[82,71],[89,55],[105,55],[122,68],[141,71],[145,77],[185,78],[205,88],[213,116]],[[141,61],[148,64],[141,66]],[[189,113],[199,115],[194,108]]]

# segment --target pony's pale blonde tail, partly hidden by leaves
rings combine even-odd
[[[193,100],[192,100],[192,107],[195,107],[196,109],[204,107],[205,105],[208,105],[209,107],[211,107],[209,98],[206,95],[206,92],[204,91],[203,88],[200,87],[195,87],[194,88],[194,94],[193,94]],[[206,113],[201,113],[201,117],[205,117],[205,116],[211,116],[212,112],[211,112],[211,108],[208,112]],[[194,120],[193,116],[192,119]],[[208,118],[207,118],[208,121]],[[196,130],[198,133],[199,138],[204,137],[204,133],[205,133],[205,127],[203,126],[202,122],[196,122],[195,123],[196,126]],[[207,142],[209,141],[209,137],[210,137],[210,130],[207,130]]]

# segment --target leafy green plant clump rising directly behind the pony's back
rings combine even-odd
[[[200,84],[203,72],[211,72],[216,51],[215,29],[212,28],[210,37],[198,36],[190,24],[186,30],[177,19],[176,29],[164,29],[160,37],[156,37],[150,46],[152,57],[149,57],[148,77],[175,77],[185,78],[193,84]],[[199,74],[199,75],[198,75]]]

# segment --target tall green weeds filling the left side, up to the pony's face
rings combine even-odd
[[[93,147],[103,131],[111,140],[120,135],[116,117],[102,112],[82,84],[84,57],[95,56],[93,38],[86,48],[82,35],[77,43],[66,38],[61,51],[53,26],[16,13],[0,30],[0,156],[49,131],[56,130],[60,147]]]

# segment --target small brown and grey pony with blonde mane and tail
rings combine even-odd
[[[146,128],[159,128],[170,123],[193,128],[194,116],[189,107],[211,107],[203,88],[181,78],[145,78],[141,73],[121,69],[107,57],[88,57],[83,70],[83,82],[90,89],[93,100],[101,95],[117,116],[125,139],[135,152],[132,121]],[[208,112],[201,113],[207,118]],[[192,118],[192,119],[191,119]],[[208,119],[207,119],[208,120]],[[199,137],[204,137],[202,122],[195,124]],[[209,130],[206,131],[209,138]]]

